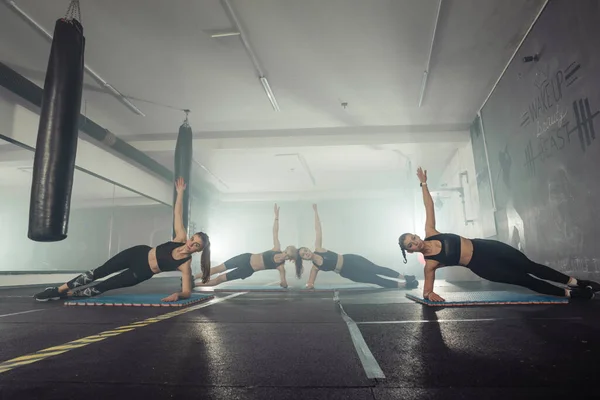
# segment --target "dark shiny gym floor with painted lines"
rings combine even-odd
[[[477,285],[438,292],[491,290]],[[0,362],[53,348],[0,370],[0,399],[564,398],[591,396],[600,366],[598,301],[431,308],[370,290],[340,292],[342,311],[333,292],[218,293],[154,320],[174,309],[37,303],[38,289],[0,290]]]

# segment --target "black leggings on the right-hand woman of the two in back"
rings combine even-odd
[[[344,254],[344,264],[340,276],[354,282],[373,283],[384,288],[398,288],[398,282],[377,275],[399,278],[400,273],[379,265],[356,254]]]

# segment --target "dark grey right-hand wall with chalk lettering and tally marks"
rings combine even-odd
[[[596,278],[599,22],[598,1],[550,1],[481,112],[498,238]],[[535,54],[539,61],[522,61]]]

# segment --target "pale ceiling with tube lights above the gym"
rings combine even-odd
[[[15,2],[49,31],[69,3]],[[230,3],[280,112],[240,37],[211,37],[234,27],[219,0],[81,1],[86,63],[146,116],[89,76],[84,112],[172,168],[173,108],[188,108],[202,178],[258,198],[388,190],[398,152],[441,174],[544,1],[443,0],[421,107],[437,0]],[[1,60],[41,85],[49,42],[4,10],[0,37]]]

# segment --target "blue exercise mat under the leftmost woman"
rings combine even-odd
[[[71,299],[66,306],[133,306],[133,307],[183,307],[212,299],[211,294],[192,294],[189,299],[163,302],[165,294],[122,294],[115,296],[99,296],[86,299]]]

